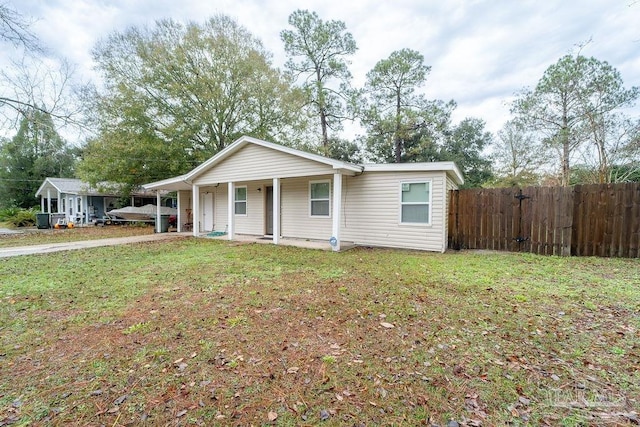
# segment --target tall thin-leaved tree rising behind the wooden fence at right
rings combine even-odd
[[[569,185],[571,161],[587,142],[596,147],[605,180],[607,117],[637,96],[637,88],[624,89],[608,63],[566,55],[547,68],[534,90],[519,95],[512,112],[558,152],[561,183]]]

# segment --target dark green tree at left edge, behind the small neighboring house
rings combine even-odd
[[[76,155],[49,114],[30,110],[16,135],[0,146],[0,206],[31,208],[45,178],[73,177]]]

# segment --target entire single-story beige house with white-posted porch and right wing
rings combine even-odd
[[[453,162],[356,165],[244,136],[191,172],[143,185],[177,191],[178,231],[443,252]],[[195,218],[192,213],[196,213]]]

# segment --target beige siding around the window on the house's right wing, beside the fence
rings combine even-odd
[[[400,224],[400,184],[431,182],[431,223]],[[443,172],[365,172],[343,178],[344,241],[361,245],[442,251],[445,223]]]

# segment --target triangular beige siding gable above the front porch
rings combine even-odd
[[[196,185],[333,173],[329,165],[248,144],[194,180]]]

